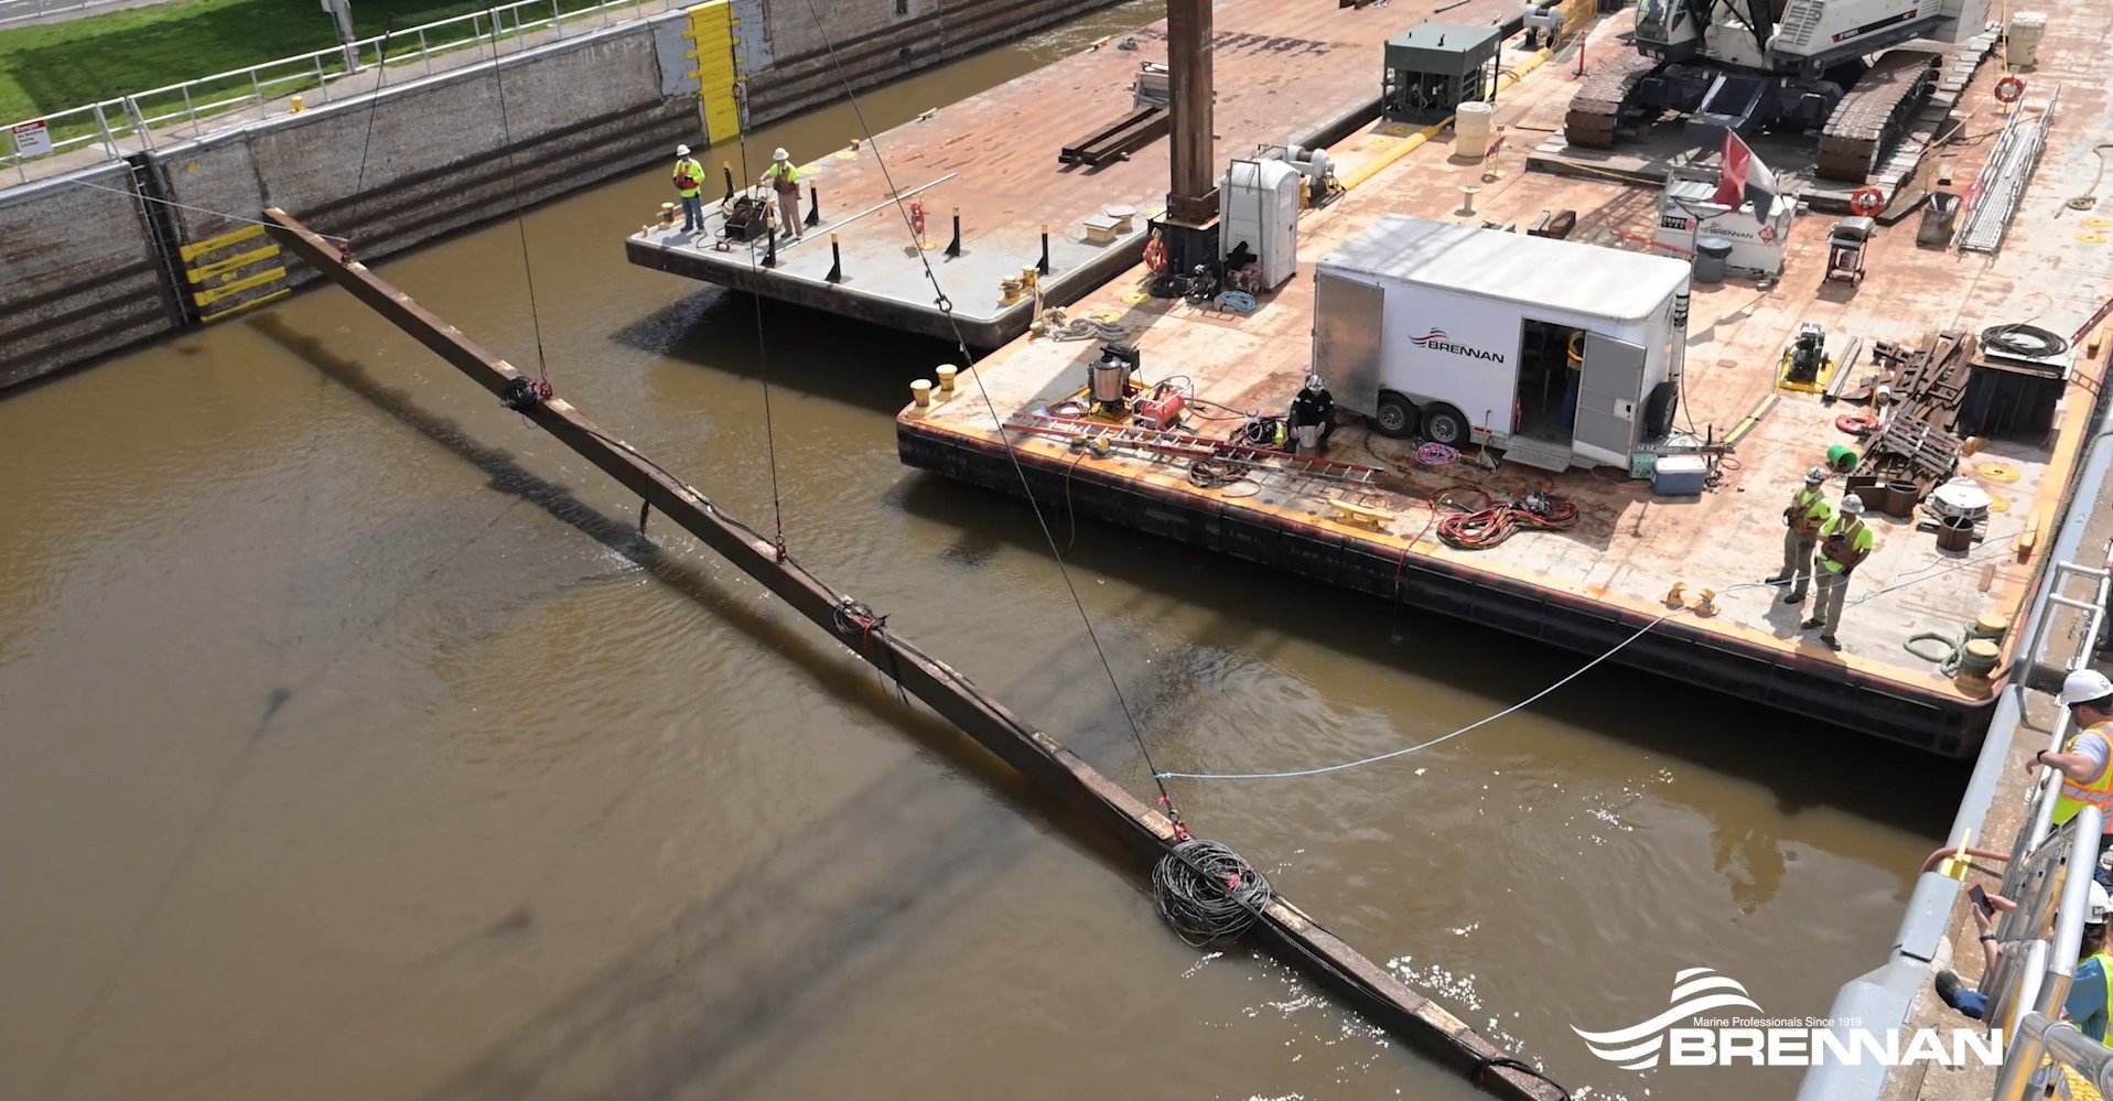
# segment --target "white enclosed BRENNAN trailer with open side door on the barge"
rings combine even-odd
[[[1671,423],[1686,315],[1682,260],[1390,216],[1314,264],[1314,372],[1388,435],[1629,467]]]

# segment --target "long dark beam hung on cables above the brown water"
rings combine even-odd
[[[353,298],[372,306],[385,321],[410,334],[492,395],[503,397],[518,389],[520,380],[526,380],[511,363],[412,302],[408,294],[378,279],[366,264],[340,254],[334,243],[317,237],[283,209],[270,207],[264,218],[273,222],[268,228],[279,245],[306,260],[332,283],[349,290]],[[854,615],[856,609],[845,607],[845,596],[792,558],[782,556],[769,539],[723,514],[702,492],[596,427],[562,397],[535,402],[520,412],[621,482],[623,488],[642,497],[668,520],[680,524],[682,530],[702,539],[742,573],[754,577],[794,611],[835,634],[858,657],[900,683],[904,691],[1018,769],[1021,776],[1033,780],[1046,795],[1090,818],[1145,866],[1175,845],[1175,826],[1166,816],[1137,801],[1054,738],[985,695],[968,676],[904,640],[892,628],[866,630]],[[1399,1040],[1471,1076],[1483,1090],[1532,1101],[1559,1101],[1564,1097],[1559,1088],[1536,1076],[1492,1063],[1504,1059],[1504,1052],[1441,1006],[1401,985],[1390,972],[1365,959],[1283,896],[1264,907],[1261,921],[1253,928],[1280,959],[1312,974],[1342,995],[1350,1008]]]

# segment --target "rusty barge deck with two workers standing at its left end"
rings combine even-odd
[[[1452,8],[1441,17],[1447,23],[1517,21],[1519,11],[1504,0],[1464,6],[1401,0],[1363,8],[1280,0],[1215,4],[1215,161],[1249,156],[1266,144],[1327,146],[1357,133],[1378,116],[1382,44],[1441,6]],[[1124,40],[1135,40],[1137,49],[1122,49]],[[1164,23],[938,108],[864,148],[803,165],[801,173],[820,192],[822,218],[799,243],[778,245],[775,266],[765,266],[761,243],[714,247],[725,222],[716,203],[708,209],[706,232],[649,228],[634,232],[623,251],[632,264],[902,332],[953,340],[957,323],[972,347],[995,349],[1033,321],[1033,296],[1006,300],[999,283],[1040,262],[1044,226],[1050,270],[1040,283],[1046,304],[1071,302],[1137,264],[1145,220],[1166,203],[1166,139],[1101,167],[1063,165],[1056,154],[1130,112],[1130,82],[1143,61],[1166,61]],[[729,156],[740,178],[731,148],[706,156],[708,201],[723,192],[721,163]],[[750,150],[750,173],[761,173],[767,156],[769,150]],[[896,197],[915,199],[928,211],[923,258],[909,243]],[[805,192],[801,201],[805,211]],[[1092,243],[1084,220],[1107,207],[1130,207],[1135,220],[1126,232]],[[949,256],[955,209],[961,251]],[[835,283],[828,279],[833,232],[843,258]],[[923,260],[953,300],[953,321],[934,304]]]

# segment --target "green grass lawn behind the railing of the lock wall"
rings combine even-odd
[[[353,0],[353,27],[368,38],[486,6],[480,0]],[[573,6],[579,4],[566,4]],[[317,0],[177,0],[8,30],[0,32],[0,125],[336,42],[332,19]]]

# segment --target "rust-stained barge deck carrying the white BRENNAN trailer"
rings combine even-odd
[[[1612,46],[1600,42],[1595,49]],[[1676,613],[1665,598],[1673,583],[1686,583],[1693,607],[1697,590],[1724,592],[1775,573],[1779,516],[1792,488],[1830,444],[1851,442],[1834,418],[1855,406],[1826,406],[1815,395],[1775,387],[1781,349],[1800,321],[1824,323],[1836,347],[1859,336],[1868,349],[1874,340],[1927,347],[1936,330],[1978,332],[2026,319],[2067,334],[2092,315],[2109,292],[2105,237],[2056,213],[2067,197],[2092,188],[2090,148],[2100,139],[2094,129],[2109,116],[2107,78],[2092,68],[2098,53],[2088,27],[2050,30],[2041,46],[2035,85],[2062,85],[2064,112],[1997,258],[1919,249],[1912,226],[1897,226],[1874,239],[1870,277],[1862,285],[1821,283],[1830,220],[1807,216],[1794,226],[1777,285],[1695,287],[1686,418],[1703,431],[1714,427],[1718,437],[1750,423],[1733,461],[1724,463],[1724,480],[1701,497],[1652,497],[1646,482],[1610,469],[1553,478],[1509,463],[1496,471],[1464,463],[1426,469],[1407,442],[1367,435],[1354,425],[1338,429],[1327,456],[1384,467],[1384,488],[1285,480],[1202,488],[1190,480],[1185,461],[1120,448],[1095,456],[1056,440],[1002,431],[985,412],[983,391],[999,416],[1048,408],[1080,389],[1086,363],[1099,353],[1095,344],[1040,336],[983,359],[930,408],[904,408],[900,456],[913,467],[1014,494],[1021,480],[1012,456],[1018,456],[1033,497],[1048,507],[1587,655],[1602,655],[1648,626],[1614,661],[1936,754],[1971,754],[1986,731],[1988,689],[1963,689],[1910,655],[1904,642],[1916,632],[1957,636],[1984,613],[2016,619],[2043,566],[2047,533],[2073,492],[2075,463],[2105,378],[2098,351],[2077,351],[2073,385],[2043,440],[1993,442],[1961,467],[1995,501],[1984,541],[1942,552],[1912,522],[1868,514],[1878,549],[1851,587],[1840,653],[1821,647],[1817,632],[1798,628],[1811,604],[1794,609],[1779,592],[1728,592],[1718,598],[1714,617]],[[1997,76],[1982,72],[1965,99],[1988,99]],[[1515,125],[1536,112],[1559,118],[1574,87],[1570,72],[1549,66],[1498,108],[1498,123]],[[2079,106],[2071,112],[2069,104]],[[1390,213],[1456,218],[1462,186],[1481,188],[1479,211],[1456,220],[1526,224],[1542,209],[1574,209],[1572,241],[1610,247],[1629,245],[1623,235],[1648,237],[1657,218],[1654,188],[1528,173],[1519,171],[1519,161],[1498,161],[1504,173],[1492,180],[1488,165],[1452,158],[1443,135],[1420,144],[1376,127],[1333,152],[1346,180],[1363,182],[1342,201],[1302,218],[1299,251],[1308,264]],[[1959,158],[1959,178],[1969,180],[1980,146],[1950,152]],[[1124,325],[1124,340],[1143,353],[1141,378],[1188,376],[1211,414],[1285,412],[1312,361],[1308,277],[1291,279],[1251,315],[1143,298],[1139,268],[1071,313]],[[1213,435],[1221,435],[1228,427],[1202,421],[1192,431],[1217,429]],[[1494,497],[1553,490],[1570,497],[1583,518],[1564,533],[1519,533],[1494,549],[1454,549],[1433,535],[1433,499],[1462,482]],[[1838,492],[1836,482],[1830,497]],[[1329,499],[1380,509],[1384,522],[1376,530],[1352,524]],[[1443,628],[1428,623],[1424,630]]]

